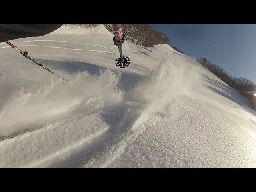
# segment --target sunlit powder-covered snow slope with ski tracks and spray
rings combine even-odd
[[[12,40],[68,82],[0,44],[0,167],[256,167],[244,97],[168,45],[104,26]],[[234,104],[233,104],[234,103]]]

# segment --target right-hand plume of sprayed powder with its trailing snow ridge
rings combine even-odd
[[[149,125],[156,125],[159,122],[159,113],[166,114],[166,110],[170,105],[180,96],[180,94],[187,90],[191,84],[188,84],[188,80],[192,77],[192,71],[188,72],[185,69],[178,68],[178,66],[168,65],[169,63],[162,63],[157,73],[154,74],[147,82],[142,82],[134,93],[139,94],[144,101],[147,102],[147,106],[143,106],[140,109],[140,113],[134,119],[131,127],[124,133],[123,139],[118,140],[108,150],[105,150],[104,158],[102,156],[93,158],[90,163],[84,165],[84,167],[108,167],[114,162],[116,158],[119,158],[126,147],[132,144],[138,136],[146,131]],[[184,77],[184,74],[187,74]],[[172,78],[170,78],[172,76]],[[176,82],[174,84],[172,81]],[[135,98],[133,98],[135,100]],[[132,110],[133,112],[135,110]],[[125,122],[125,119],[124,119]],[[127,126],[127,122],[121,126]],[[118,130],[122,127],[118,127]]]

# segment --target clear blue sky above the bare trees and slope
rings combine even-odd
[[[256,24],[150,24],[184,54],[256,83]]]

